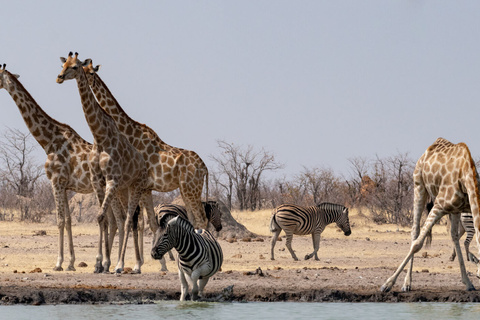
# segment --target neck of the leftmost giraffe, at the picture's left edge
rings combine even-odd
[[[7,72],[8,77],[8,81],[4,81],[7,83],[5,89],[15,101],[28,130],[47,154],[52,152],[52,142],[58,137],[63,139],[62,132],[66,129],[73,129],[45,113],[17,78],[6,70],[4,72]]]

